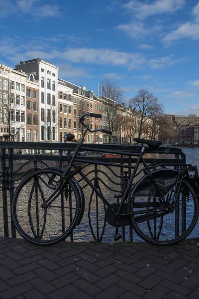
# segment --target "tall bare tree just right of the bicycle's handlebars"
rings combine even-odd
[[[118,115],[121,113],[119,108],[123,100],[123,90],[105,77],[104,81],[101,82],[101,100],[103,102],[103,116],[107,124],[105,129],[115,135],[121,122]],[[112,135],[108,135],[109,143],[111,143]]]

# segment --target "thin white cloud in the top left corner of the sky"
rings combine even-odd
[[[37,18],[58,17],[61,14],[58,5],[42,4],[43,0],[1,0],[0,17],[10,14],[21,16],[28,14]]]

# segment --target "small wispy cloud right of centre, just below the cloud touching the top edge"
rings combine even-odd
[[[152,35],[162,30],[162,25],[155,24],[148,26],[143,22],[132,21],[126,24],[120,24],[115,27],[129,35],[131,38],[142,38],[143,36]]]

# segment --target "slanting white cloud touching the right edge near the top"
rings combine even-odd
[[[199,2],[192,10],[193,20],[181,24],[177,29],[168,33],[162,38],[162,42],[169,46],[171,43],[184,39],[191,38],[192,40],[199,39]]]

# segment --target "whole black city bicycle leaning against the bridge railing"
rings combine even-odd
[[[135,138],[134,141],[142,145],[141,151],[133,154],[137,162],[132,166],[121,201],[110,204],[75,163],[87,132],[111,134],[107,130],[91,130],[85,123],[86,116],[101,118],[94,113],[85,113],[79,118],[85,131],[68,167],[34,170],[16,188],[12,215],[18,233],[36,245],[53,245],[66,239],[80,224],[85,209],[84,194],[75,178],[79,173],[106,205],[105,219],[115,227],[115,241],[121,238],[118,228],[125,225],[131,225],[143,240],[154,245],[174,245],[185,239],[199,217],[198,188],[188,171],[191,164],[147,165],[143,158],[145,149],[153,150],[161,142]],[[75,136],[67,134],[66,138],[72,141]],[[140,164],[143,168],[138,170]],[[134,183],[141,171],[144,175]]]

